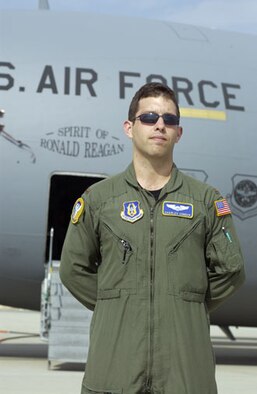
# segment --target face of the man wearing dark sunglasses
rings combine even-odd
[[[176,113],[175,104],[163,97],[147,97],[139,101],[136,117],[155,112],[158,115]],[[174,125],[165,125],[163,118],[159,117],[155,124],[145,124],[136,119],[135,122],[124,122],[124,130],[133,141],[134,155],[145,158],[166,158],[170,160],[175,143],[182,135],[182,128]]]

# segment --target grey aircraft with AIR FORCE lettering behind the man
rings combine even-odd
[[[212,322],[257,326],[256,36],[36,10],[1,11],[0,37],[0,304],[40,308],[50,229],[58,260],[76,198],[130,162],[132,96],[160,81],[181,107],[175,162],[227,197],[245,256]]]

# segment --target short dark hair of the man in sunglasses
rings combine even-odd
[[[177,109],[177,116],[180,118],[179,106],[174,91],[162,83],[150,82],[143,85],[132,98],[128,111],[128,119],[131,122],[134,122],[136,113],[138,111],[139,101],[141,99],[159,96],[163,96],[173,101]]]

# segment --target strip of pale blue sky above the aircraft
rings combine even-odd
[[[257,0],[43,0],[50,9],[168,20],[257,35]],[[38,8],[39,0],[0,0],[1,9]]]

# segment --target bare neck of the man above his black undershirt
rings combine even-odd
[[[171,158],[165,161],[159,159],[150,161],[134,157],[133,164],[138,183],[144,189],[159,190],[166,185],[171,177],[173,160]]]

